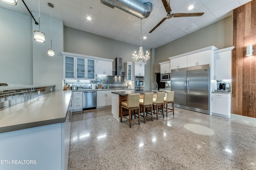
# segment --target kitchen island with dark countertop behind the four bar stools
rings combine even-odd
[[[154,92],[154,97],[157,93],[156,90],[140,90],[140,91],[124,91],[112,92],[112,114],[113,117],[120,122],[120,105],[121,102],[126,101],[128,94],[140,93],[140,99],[143,99],[145,92]],[[158,92],[166,92],[166,90],[158,90]]]

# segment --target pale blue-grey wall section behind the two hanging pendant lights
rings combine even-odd
[[[34,18],[38,13],[32,12]],[[32,25],[33,31],[38,31],[38,25]],[[62,20],[52,18],[52,49],[55,56],[47,55],[51,47],[50,17],[40,14],[40,31],[45,33],[45,43],[33,42],[33,84],[55,84],[55,90],[63,90],[63,23]]]

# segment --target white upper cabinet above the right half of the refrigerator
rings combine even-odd
[[[193,53],[187,56],[188,67],[198,66],[204,64],[210,64],[211,51],[200,51],[198,53]]]

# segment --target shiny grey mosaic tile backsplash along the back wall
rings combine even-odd
[[[113,75],[116,72],[113,71]],[[78,89],[91,89],[92,83],[96,84],[96,88],[98,84],[102,84],[102,88],[104,89],[118,89],[118,88],[127,88],[127,84],[129,82],[124,81],[124,72],[122,72],[122,76],[96,76],[96,80],[64,80],[63,87],[68,83],[68,86],[78,86]],[[131,82],[130,82],[131,84]]]

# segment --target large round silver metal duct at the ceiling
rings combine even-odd
[[[138,0],[100,0],[100,3],[110,8],[116,7],[140,19],[148,18],[150,12],[152,12],[150,2],[142,4]]]

